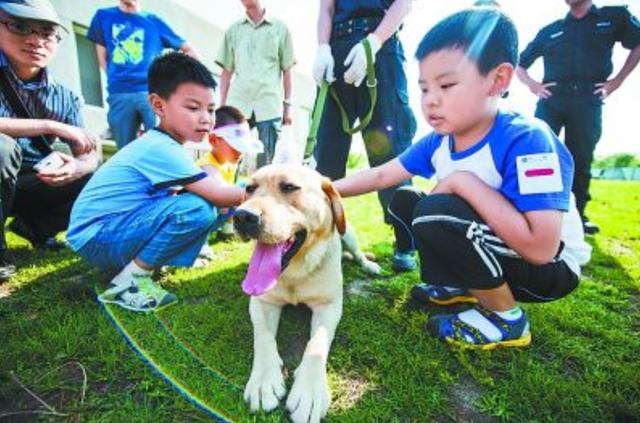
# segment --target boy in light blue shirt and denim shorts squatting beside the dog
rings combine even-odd
[[[135,311],[173,302],[151,272],[191,266],[214,227],[216,207],[242,201],[243,189],[208,176],[182,148],[208,137],[215,86],[209,70],[187,55],[156,59],[149,100],[160,125],[118,151],[78,197],[69,243],[100,269],[119,271],[100,301]]]

